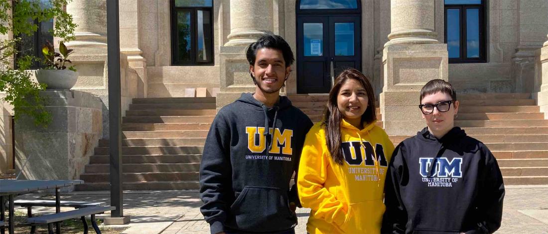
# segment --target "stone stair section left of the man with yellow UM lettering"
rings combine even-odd
[[[215,97],[135,98],[122,122],[124,190],[198,189]],[[101,139],[77,190],[109,190],[109,141]]]

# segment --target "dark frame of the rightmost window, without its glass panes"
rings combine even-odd
[[[447,44],[447,10],[459,9],[459,57],[449,58],[449,63],[486,63],[487,62],[487,12],[486,1],[481,0],[480,4],[444,4],[443,24],[444,43]],[[466,10],[478,9],[478,31],[479,31],[479,57],[470,58],[467,56],[466,43]]]

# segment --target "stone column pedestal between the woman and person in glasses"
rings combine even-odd
[[[429,80],[448,79],[446,44],[388,45],[383,51],[380,107],[389,135],[414,134],[424,125],[418,105]]]

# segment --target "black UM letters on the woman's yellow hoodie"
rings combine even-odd
[[[363,145],[365,146],[365,149],[362,147],[361,142],[341,143],[344,159],[348,165],[361,165],[362,161],[365,161],[366,166],[375,166],[375,161],[373,160],[373,146],[369,142],[363,142]],[[364,154],[365,157],[363,157]],[[379,166],[388,167],[386,157],[384,156],[383,145],[375,145],[375,154],[376,160],[379,161]]]

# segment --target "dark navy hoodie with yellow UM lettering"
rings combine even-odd
[[[211,233],[272,233],[296,225],[289,203],[300,203],[289,183],[310,127],[310,118],[284,96],[267,108],[242,93],[219,110],[200,166],[201,212]]]

